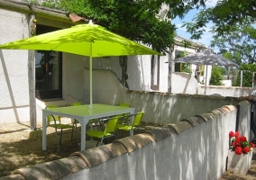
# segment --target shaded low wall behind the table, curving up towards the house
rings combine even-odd
[[[84,69],[84,101],[89,103],[89,71]],[[142,121],[165,125],[223,105],[238,105],[237,97],[204,94],[169,94],[128,90],[111,70],[93,71],[93,103],[129,103],[135,112],[144,111]]]

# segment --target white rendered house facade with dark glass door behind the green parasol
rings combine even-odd
[[[67,12],[23,1],[0,1],[0,10],[0,44],[76,25]],[[177,37],[170,56],[128,57],[129,89],[168,92],[169,85],[180,84],[175,78],[170,82],[169,75],[174,71],[174,65],[169,67],[166,62],[175,58],[178,51],[195,53],[195,49],[203,47],[197,43],[186,47],[186,41]],[[41,121],[41,108],[46,103],[89,102],[84,76],[85,69],[89,68],[88,57],[56,51],[35,50],[30,53],[29,50],[0,49],[0,59],[0,124],[29,121],[33,101],[38,121]],[[119,57],[94,58],[93,69],[112,70],[122,79]],[[97,82],[93,81],[93,85],[96,86]],[[105,82],[105,85],[110,84]]]

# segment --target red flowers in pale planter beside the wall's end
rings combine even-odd
[[[229,172],[245,175],[251,168],[253,143],[249,143],[246,137],[240,136],[240,132],[230,131],[230,151],[227,157],[227,168]]]

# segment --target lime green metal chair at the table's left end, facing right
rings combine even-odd
[[[52,109],[52,108],[58,108],[58,106],[57,105],[49,105],[49,106],[46,106],[45,109]],[[71,130],[73,128],[73,126],[70,124],[62,124],[60,122],[60,116],[51,115],[51,114],[47,116],[47,122],[48,122],[49,127],[55,128],[56,143],[57,143],[58,151],[60,152],[59,145],[61,144],[62,134],[72,133],[71,139],[73,136],[73,130],[71,132],[70,131],[64,132],[63,130],[69,130],[69,129]],[[60,130],[60,132],[58,130]],[[58,140],[58,135],[59,135],[59,140]],[[78,140],[78,130],[77,129],[76,129],[76,135],[77,135],[77,140]]]

